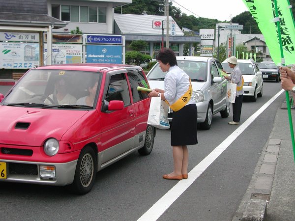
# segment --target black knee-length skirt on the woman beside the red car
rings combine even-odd
[[[197,139],[198,111],[195,104],[184,106],[173,112],[171,125],[171,145],[184,146],[198,143]]]

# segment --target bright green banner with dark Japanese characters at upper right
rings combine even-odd
[[[274,0],[243,0],[265,37],[272,60],[277,66],[295,62],[295,24],[289,0],[276,0],[278,17],[275,14]],[[281,39],[277,22],[280,25]],[[283,58],[280,49],[283,48]]]

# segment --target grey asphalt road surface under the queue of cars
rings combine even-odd
[[[0,93],[5,89],[0,86]],[[280,83],[265,82],[262,98],[257,102],[244,100],[241,123],[280,90]],[[158,220],[232,220],[284,96],[282,93],[266,108]],[[229,118],[221,118],[218,113],[210,130],[198,131],[199,143],[189,146],[189,171],[238,128],[228,124],[231,120],[232,110]],[[133,153],[98,172],[92,191],[86,195],[73,195],[65,187],[0,182],[0,220],[136,221],[177,184],[162,178],[172,169],[170,130],[157,130],[149,156]]]

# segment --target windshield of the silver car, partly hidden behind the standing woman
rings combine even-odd
[[[207,77],[207,62],[203,61],[177,61],[177,66],[180,67],[190,77],[191,81],[206,81]],[[162,72],[159,63],[148,73],[148,80],[164,80],[167,72]]]

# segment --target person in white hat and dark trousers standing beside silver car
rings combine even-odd
[[[237,66],[237,59],[235,56],[231,56],[227,59],[230,68],[233,68],[231,76],[225,77],[227,80],[232,83],[236,83],[236,100],[233,103],[233,121],[230,121],[230,125],[238,125],[240,121],[241,111],[242,111],[242,103],[243,103],[243,77],[242,73]]]

